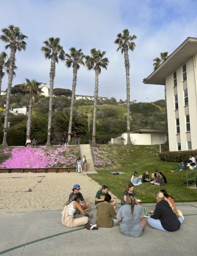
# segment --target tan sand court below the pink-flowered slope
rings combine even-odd
[[[87,175],[71,172],[0,174],[0,212],[63,209],[74,184],[80,185],[85,201],[94,206],[101,186]]]

